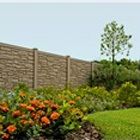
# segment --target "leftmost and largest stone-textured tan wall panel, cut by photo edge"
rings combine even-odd
[[[33,87],[33,51],[0,45],[0,87],[11,89],[18,82]]]

